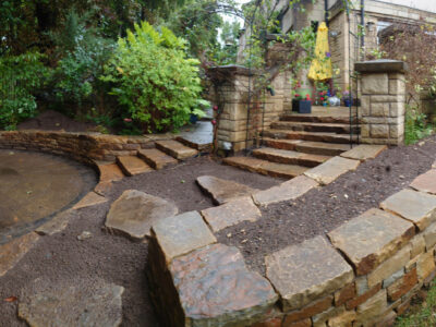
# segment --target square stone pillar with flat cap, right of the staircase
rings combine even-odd
[[[356,62],[354,70],[361,75],[361,142],[401,144],[404,140],[405,62]]]

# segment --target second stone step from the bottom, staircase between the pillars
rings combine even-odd
[[[316,167],[325,162],[329,158],[331,158],[329,156],[311,155],[293,150],[277,149],[271,147],[255,149],[253,152],[253,156],[272,162],[299,165],[305,167]]]

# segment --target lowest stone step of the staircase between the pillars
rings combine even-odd
[[[252,172],[286,179],[298,177],[308,169],[307,167],[276,164],[253,157],[230,157],[223,159],[223,162]]]

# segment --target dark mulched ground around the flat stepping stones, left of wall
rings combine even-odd
[[[17,296],[32,289],[33,281],[41,283],[83,279],[83,286],[90,278],[99,277],[107,282],[125,288],[122,326],[159,326],[148,298],[145,278],[147,246],[134,243],[124,237],[107,233],[102,227],[110,203],[125,190],[135,189],[173,201],[179,211],[201,210],[213,206],[195,184],[198,175],[211,174],[244,183],[257,189],[268,189],[281,182],[233,167],[222,166],[209,157],[192,159],[172,169],[165,169],[126,178],[114,183],[109,203],[78,210],[78,216],[70,220],[63,232],[41,237],[24,258],[7,275],[0,278],[0,326],[26,326],[16,317],[17,302],[5,302],[9,296]],[[78,241],[83,231],[92,232],[92,238]]]

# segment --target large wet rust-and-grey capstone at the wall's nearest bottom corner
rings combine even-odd
[[[272,308],[277,294],[250,271],[237,247],[214,244],[173,259],[169,266],[184,317],[180,326],[240,326]]]

